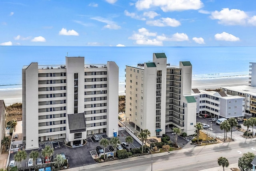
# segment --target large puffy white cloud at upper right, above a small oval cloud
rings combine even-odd
[[[244,11],[223,8],[220,12],[214,11],[210,16],[212,20],[219,20],[219,24],[224,25],[244,25],[246,24],[247,14]]]

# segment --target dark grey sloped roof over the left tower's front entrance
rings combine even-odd
[[[68,126],[70,133],[86,131],[84,113],[68,114]]]

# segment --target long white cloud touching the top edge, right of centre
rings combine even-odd
[[[203,7],[201,0],[138,0],[135,4],[138,10],[160,7],[164,12],[198,10]]]

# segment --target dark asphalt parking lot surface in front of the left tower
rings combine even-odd
[[[118,139],[120,140],[120,142],[125,142],[125,138],[129,135],[126,131],[119,131],[118,134],[119,134]],[[106,136],[106,134],[98,134],[98,135],[101,135],[102,138],[106,138],[106,139],[110,140],[110,138],[108,138]],[[52,143],[53,148],[54,148],[54,155],[60,154],[63,152],[66,156],[66,159],[68,159],[70,168],[79,167],[82,165],[94,164],[94,163],[96,163],[96,161],[94,161],[94,159],[92,158],[90,151],[96,150],[96,147],[98,145],[100,145],[100,142],[94,142],[94,140],[91,137],[92,137],[92,135],[87,137],[86,145],[84,145],[82,147],[76,147],[76,148],[67,147],[63,141],[62,142],[54,142],[54,143]],[[134,140],[134,142],[130,144],[130,147],[132,149],[136,148],[136,147],[140,147],[140,146],[141,145],[138,142],[136,142],[136,140]],[[38,151],[39,155],[41,155],[41,151],[44,147],[45,147],[44,144],[40,144],[40,148],[35,149],[34,151]],[[108,147],[106,148],[106,152],[110,152]],[[31,151],[32,150],[26,150],[28,155],[27,155],[27,158],[24,161],[22,161],[22,167],[26,167],[28,159],[29,159],[29,153]],[[14,159],[14,154],[15,153],[11,153],[10,160]],[[41,155],[41,158],[43,159],[42,155]],[[16,165],[17,165],[17,163],[16,163]]]

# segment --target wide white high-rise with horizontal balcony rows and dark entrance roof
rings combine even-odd
[[[112,137],[118,132],[118,66],[84,65],[84,57],[24,66],[22,122],[26,149],[60,139],[81,144],[97,133]]]

